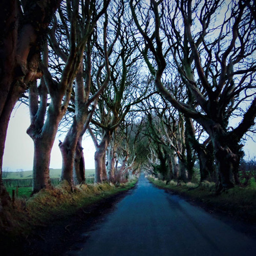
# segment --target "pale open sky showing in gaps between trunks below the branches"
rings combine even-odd
[[[32,170],[33,168],[33,141],[26,131],[30,125],[29,109],[22,104],[12,112],[9,122],[3,170],[15,171],[19,169]],[[58,147],[58,140],[63,141],[63,137],[56,136],[51,154],[50,168],[61,168],[61,154]],[[86,169],[94,169],[95,147],[90,137],[86,137],[82,142]],[[244,152],[246,158],[256,156],[256,143],[251,139],[245,143]]]

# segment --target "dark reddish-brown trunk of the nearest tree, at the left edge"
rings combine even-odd
[[[2,164],[11,112],[28,84],[42,76],[40,50],[52,15],[61,0],[0,3],[0,197]],[[6,193],[5,193],[6,194]]]

